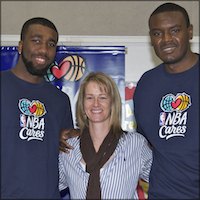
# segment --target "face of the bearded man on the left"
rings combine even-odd
[[[26,70],[36,76],[46,74],[56,54],[57,33],[40,24],[31,25],[19,43],[22,61]]]

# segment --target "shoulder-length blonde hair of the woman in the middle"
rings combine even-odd
[[[80,128],[80,132],[88,127],[88,118],[84,111],[84,98],[85,98],[85,89],[90,82],[95,82],[99,85],[100,89],[105,91],[111,99],[111,115],[110,115],[110,128],[113,133],[118,135],[122,133],[121,128],[121,114],[122,114],[122,104],[119,90],[117,88],[114,80],[104,74],[103,72],[91,72],[85,79],[82,81],[78,100],[76,103],[76,121],[77,125]]]

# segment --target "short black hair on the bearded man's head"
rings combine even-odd
[[[43,26],[47,26],[47,27],[53,29],[57,33],[57,42],[58,42],[58,30],[57,30],[56,26],[53,24],[53,22],[51,22],[50,20],[43,18],[43,17],[34,17],[34,18],[27,20],[24,23],[24,25],[22,26],[21,37],[20,37],[20,39],[22,41],[25,38],[25,35],[26,35],[26,32],[27,32],[29,26],[33,25],[33,24],[41,24]]]

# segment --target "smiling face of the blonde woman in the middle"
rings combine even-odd
[[[90,81],[85,88],[84,111],[90,123],[105,123],[109,125],[111,113],[111,98],[96,82]]]

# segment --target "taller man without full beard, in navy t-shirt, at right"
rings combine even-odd
[[[152,145],[150,199],[199,198],[199,55],[184,8],[159,6],[149,18],[162,64],[143,74],[134,94],[137,131]]]

